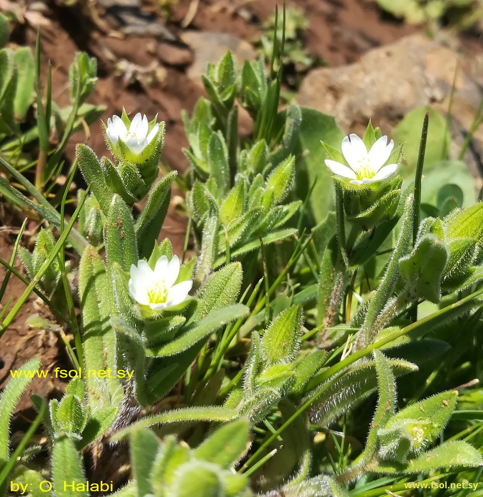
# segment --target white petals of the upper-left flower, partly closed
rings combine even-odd
[[[153,138],[157,135],[160,124],[157,123],[148,135],[148,118],[146,114],[141,119],[141,112],[138,112],[129,126],[129,131],[119,116],[112,116],[107,120],[106,135],[113,145],[121,140],[135,155],[140,154]]]

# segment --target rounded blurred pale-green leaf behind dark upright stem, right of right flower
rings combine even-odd
[[[403,160],[400,166],[400,173],[405,178],[414,176],[419,153],[421,125],[426,112],[429,113],[429,127],[423,174],[426,174],[429,168],[441,159],[446,159],[448,155],[450,137],[445,119],[431,107],[418,107],[411,110],[404,116],[393,133],[393,139],[396,143],[405,142]]]

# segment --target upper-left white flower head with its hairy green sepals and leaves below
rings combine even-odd
[[[157,122],[157,118],[156,115],[148,121],[146,115],[138,112],[130,121],[123,107],[121,117],[112,116],[107,126],[102,123],[106,145],[116,164],[103,158],[101,166],[119,190],[116,192],[131,204],[144,198],[158,177],[164,122]]]

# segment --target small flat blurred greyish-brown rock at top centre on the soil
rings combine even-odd
[[[193,64],[187,72],[188,77],[200,84],[200,77],[206,72],[208,63],[217,64],[228,50],[235,55],[239,67],[242,67],[243,61],[256,58],[255,49],[247,41],[230,33],[185,31],[180,38],[194,52]]]

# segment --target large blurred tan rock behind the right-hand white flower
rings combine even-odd
[[[321,68],[304,79],[297,102],[335,116],[345,132],[362,134],[371,118],[384,133],[391,131],[410,110],[431,106],[442,115],[448,110],[455,70],[452,103],[451,158],[457,155],[483,98],[481,60],[469,60],[424,36],[412,35],[376,48],[348,66]],[[483,127],[465,157],[475,175],[483,174]]]

